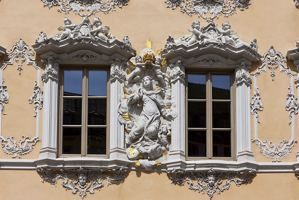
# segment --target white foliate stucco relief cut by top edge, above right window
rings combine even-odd
[[[218,19],[220,15],[224,14],[225,17],[231,16],[236,13],[235,8],[244,10],[248,8],[250,0],[166,0],[167,7],[176,9],[176,7],[181,8],[182,13],[186,13],[190,17],[193,14],[198,15],[210,22],[213,19]],[[212,16],[206,16],[209,13]]]

